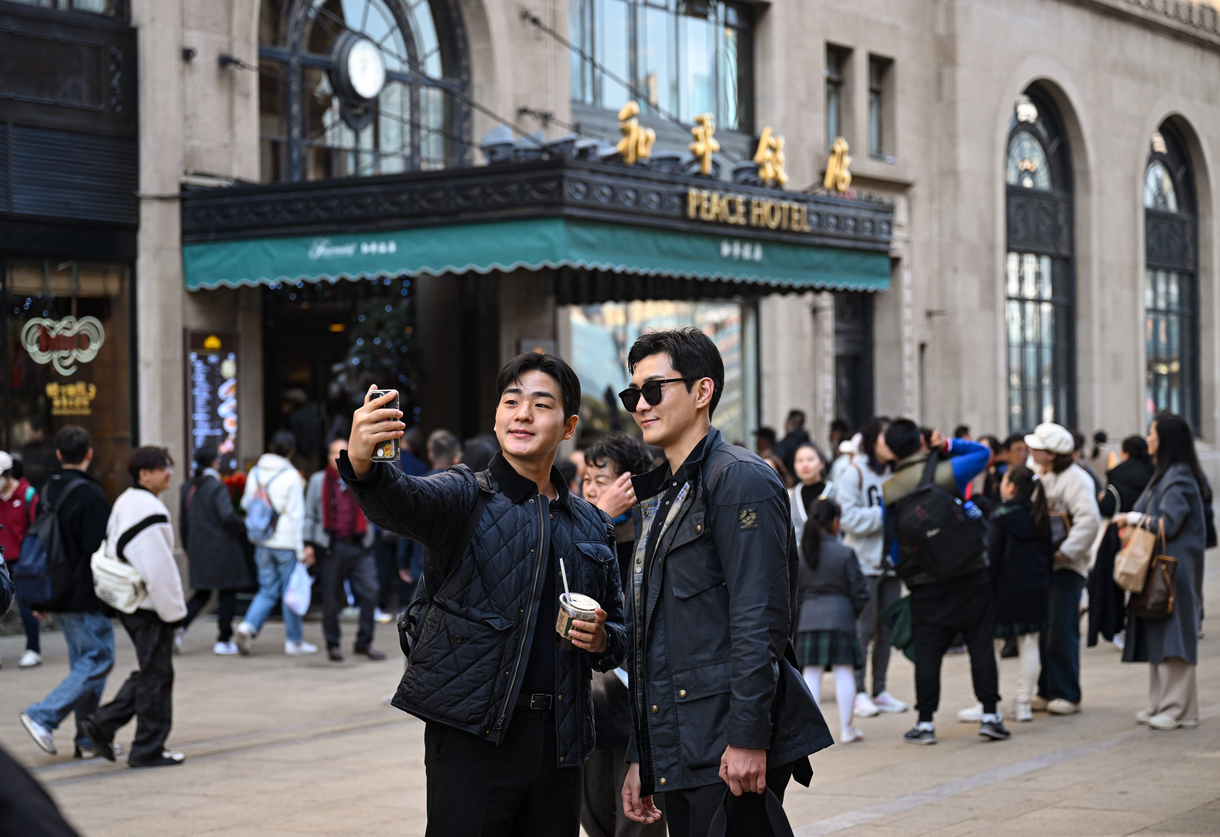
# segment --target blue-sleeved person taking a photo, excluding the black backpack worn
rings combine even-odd
[[[936,484],[959,499],[992,456],[987,445],[969,439],[946,439],[939,432],[933,432],[931,444],[927,444],[919,426],[909,419],[899,419],[886,428],[886,445],[898,460],[894,476],[881,489],[886,517],[895,515],[894,504],[919,487],[930,448],[943,458],[936,466]],[[980,514],[977,510],[974,512]],[[936,743],[932,716],[941,703],[941,660],[960,633],[970,650],[975,695],[983,705],[978,735],[1006,741],[1011,735],[997,710],[999,675],[992,649],[996,609],[986,551],[980,550],[977,556],[964,561],[948,578],[935,577],[915,566],[910,549],[900,536],[891,538],[887,553],[910,589],[915,643],[915,709],[919,710],[919,720],[903,739],[910,744]]]

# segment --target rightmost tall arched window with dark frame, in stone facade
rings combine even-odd
[[[1153,133],[1144,170],[1147,419],[1171,410],[1199,425],[1198,216],[1181,133]]]

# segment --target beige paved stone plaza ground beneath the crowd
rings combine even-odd
[[[1218,602],[1218,556],[1209,559],[1207,595]],[[813,787],[789,786],[798,837],[1220,835],[1218,619],[1208,620],[1214,638],[1199,644],[1204,720],[1194,731],[1137,726],[1147,666],[1121,665],[1103,642],[1083,653],[1082,714],[1035,715],[1032,724],[1011,724],[1013,741],[987,743],[953,717],[972,697],[966,658],[948,658],[939,743],[900,742],[911,713],[861,720],[864,743],[817,754]],[[422,835],[423,725],[383,703],[401,672],[390,626],[378,626],[377,643],[390,659],[337,665],[321,654],[285,658],[278,625],[250,658],[214,656],[214,625],[196,623],[174,661],[170,744],[187,754],[184,766],[73,761],[71,721],[56,736],[59,756],[34,745],[17,714],[62,677],[57,633],[45,638],[45,663],[33,670],[16,667],[21,637],[0,639],[0,743],[51,788],[84,837]],[[349,642],[354,627],[345,626]],[[107,699],[134,665],[126,634],[116,636]],[[321,644],[318,623],[306,623],[305,636]],[[893,692],[911,700],[904,658],[892,674]],[[1000,677],[1011,694],[1015,660],[1005,660]],[[118,739],[129,742],[133,731]]]

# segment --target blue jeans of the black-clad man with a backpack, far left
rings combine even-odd
[[[81,719],[93,715],[106,687],[106,675],[115,665],[115,626],[101,614],[56,614],[68,645],[72,666],[63,682],[26,714],[48,730],[55,730],[73,711],[77,716],[76,743],[93,749],[81,732]]]

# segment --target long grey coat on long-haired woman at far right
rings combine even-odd
[[[1164,522],[1165,548],[1157,551],[1177,559],[1177,578],[1169,619],[1128,621],[1122,660],[1159,664],[1176,656],[1194,665],[1199,659],[1199,591],[1208,536],[1203,495],[1191,469],[1171,465],[1160,482],[1144,489],[1135,510],[1152,517],[1153,532]]]

